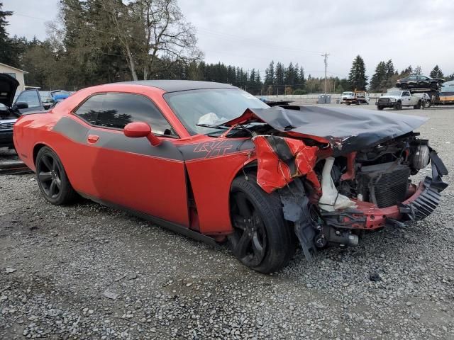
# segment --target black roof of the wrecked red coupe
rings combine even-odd
[[[112,84],[133,84],[157,87],[166,92],[188,91],[199,89],[238,89],[231,84],[215,83],[214,81],[195,81],[195,80],[137,80],[121,81]]]

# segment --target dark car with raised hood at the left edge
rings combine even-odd
[[[13,147],[13,125],[22,113],[44,110],[36,89],[22,91],[13,104],[18,86],[15,78],[0,73],[0,147]]]

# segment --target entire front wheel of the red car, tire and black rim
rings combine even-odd
[[[245,266],[272,273],[289,263],[296,250],[296,236],[282,215],[277,193],[265,193],[255,176],[233,180],[231,186],[233,234],[228,237],[233,254]]]

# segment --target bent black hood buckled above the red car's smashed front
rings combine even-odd
[[[257,119],[295,137],[328,142],[334,155],[347,154],[392,140],[413,131],[428,120],[414,115],[355,108],[289,106],[248,108],[243,115],[226,125]]]

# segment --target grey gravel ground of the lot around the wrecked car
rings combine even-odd
[[[402,112],[431,118],[421,135],[451,173],[436,213],[314,263],[299,252],[272,276],[125,212],[52,206],[33,175],[0,176],[0,338],[454,339],[454,109]]]

